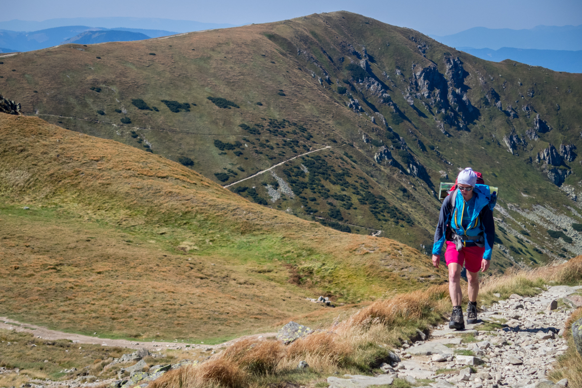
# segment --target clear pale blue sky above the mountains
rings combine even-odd
[[[335,10],[435,35],[471,27],[520,29],[540,24],[582,24],[581,0],[20,0],[2,7],[0,21],[125,16],[246,24]]]

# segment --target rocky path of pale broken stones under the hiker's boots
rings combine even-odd
[[[563,388],[567,382],[555,385],[546,373],[555,357],[567,350],[562,334],[573,308],[556,308],[556,301],[580,289],[553,286],[534,297],[512,294],[482,311],[481,322],[465,330],[450,330],[446,324],[432,330],[426,341],[405,342],[393,350],[390,365],[382,364],[386,374],[331,376],[329,388],[391,385],[394,378],[426,388]],[[480,330],[486,322],[503,328]]]

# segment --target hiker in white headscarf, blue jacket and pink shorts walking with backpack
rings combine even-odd
[[[485,272],[491,260],[491,248],[495,238],[492,209],[495,193],[489,193],[481,174],[467,167],[459,173],[456,186],[442,202],[437,230],[432,248],[432,264],[438,268],[441,249],[446,243],[445,261],[449,268],[449,294],[453,303],[449,328],[463,330],[465,322],[461,303],[461,270],[467,268],[469,305],[467,323],[477,323],[477,294],[479,271]],[[460,195],[459,195],[460,194]]]

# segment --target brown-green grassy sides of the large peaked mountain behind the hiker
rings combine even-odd
[[[423,44],[426,45],[425,57],[417,48]],[[401,112],[400,119],[395,118],[390,106],[378,102],[377,96],[365,85],[353,80],[344,82],[351,78],[346,64],[359,60],[348,45],[360,52],[361,46],[365,46],[370,55],[370,71],[384,82],[391,100]],[[442,115],[431,105],[430,99],[417,96],[413,99],[414,106],[410,106],[404,95],[409,91],[414,95],[413,73],[432,63],[448,78],[445,58],[455,56],[460,57],[467,71],[464,85],[479,114],[472,119],[469,117],[467,131],[445,125],[445,130],[451,134],[448,137],[437,128],[435,120],[442,121]],[[500,205],[505,207],[508,202],[526,208],[543,203],[553,209],[564,209],[563,204],[572,204],[548,181],[535,161],[530,162],[530,157],[535,159],[535,154],[550,142],[556,148],[562,142],[582,146],[578,135],[582,117],[577,107],[580,75],[512,61],[487,62],[443,46],[417,31],[389,26],[353,13],[310,15],[167,39],[87,47],[63,45],[19,54],[3,62],[0,75],[4,78],[0,78],[0,88],[9,98],[22,102],[24,111],[74,117],[41,116],[62,127],[115,139],[137,148],[142,148],[144,143],[151,144],[154,153],[168,159],[190,157],[195,162],[194,170],[205,177],[217,181],[215,173],[229,175],[226,184],[307,149],[331,145],[334,148],[311,157],[324,158],[327,163],[324,170],[329,176],[340,174],[345,181],[320,175],[321,181],[309,184],[307,177],[294,176],[308,186],[301,193],[304,198],[286,196],[275,203],[269,202],[269,206],[288,209],[303,218],[310,218],[310,213],[317,210],[315,216],[331,221],[330,210],[339,209],[341,222],[363,227],[351,227],[353,232],[370,233],[365,228],[382,230],[383,236],[411,246],[427,246],[424,250],[430,250],[431,232],[437,218],[439,202],[432,191],[441,180],[439,171],[445,171],[452,178],[457,168],[474,166],[484,173],[487,182],[502,189],[501,200],[505,202]],[[329,84],[325,82],[325,74],[331,76]],[[324,78],[321,84],[318,77]],[[347,87],[368,114],[374,114],[374,110],[384,114],[395,133],[406,141],[410,155],[425,166],[430,180],[413,177],[406,166],[391,167],[374,161],[378,148],[362,141],[363,132],[376,141],[395,146],[397,149],[392,149],[394,159],[405,164],[398,153],[401,145],[387,137],[385,127],[372,124],[369,116],[348,109],[348,97],[336,92],[339,86]],[[91,87],[101,88],[101,92]],[[484,96],[490,94],[491,88],[499,95],[503,109],[513,105],[518,118],[510,119],[495,106],[485,105]],[[530,97],[528,91],[532,89],[535,93]],[[278,94],[280,90],[285,96]],[[207,96],[228,98],[240,108],[221,109]],[[157,106],[159,112],[137,109],[132,105],[134,98]],[[195,103],[196,106],[192,106],[190,112],[172,113],[161,99]],[[535,113],[527,117],[521,111],[526,103],[554,128],[540,134],[538,141],[529,141],[524,135],[533,126],[535,117]],[[105,116],[97,114],[98,109],[104,110]],[[127,113],[115,113],[115,109]],[[132,120],[129,126],[120,123],[120,118],[125,116]],[[400,120],[402,123],[398,123]],[[260,124],[262,127],[256,127],[259,134],[251,134],[239,124],[251,127]],[[299,125],[306,132],[299,130]],[[132,137],[132,130],[137,138]],[[528,142],[527,146],[518,147],[517,155],[507,152],[503,142],[503,136],[513,130]],[[220,150],[214,146],[217,139],[230,143],[240,141],[249,147],[242,145],[235,150]],[[425,150],[417,146],[418,141],[424,144]],[[236,156],[235,151],[242,154]],[[344,152],[357,164],[344,156]],[[279,177],[288,179],[285,170],[289,172],[295,167],[292,171],[300,172],[300,164],[308,160],[297,159],[274,171]],[[566,182],[575,184],[582,167],[574,161],[568,163],[568,168],[574,174]],[[320,171],[310,170],[311,173]],[[268,199],[261,184],[273,183],[269,174],[263,174],[231,189],[255,186],[258,195]],[[407,192],[403,193],[402,188]],[[293,189],[298,193],[295,186]],[[387,210],[375,217],[370,203],[360,203],[365,191],[384,196],[384,203],[392,212]],[[532,197],[524,197],[521,193]],[[343,200],[329,197],[332,194],[346,195],[349,201],[347,197]],[[250,197],[248,191],[242,195]],[[519,231],[523,228],[520,225],[528,221],[511,214],[516,222],[506,221]],[[568,215],[572,216],[569,212]],[[410,217],[409,222],[405,222],[406,216]],[[529,225],[528,231],[534,241],[561,252],[559,242],[546,241],[545,227]],[[504,245],[519,246],[513,236],[500,236]],[[565,249],[570,251],[567,253],[570,256],[580,253],[582,247],[565,246]],[[528,262],[548,259],[545,254],[529,252],[523,254]],[[521,254],[515,256],[519,260]],[[497,249],[494,258],[499,268],[512,264]]]

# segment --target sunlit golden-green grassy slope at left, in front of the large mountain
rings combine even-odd
[[[0,136],[0,312],[15,319],[220,340],[351,308],[306,297],[354,303],[443,279],[416,249],[266,209],[115,141],[6,114]]]

